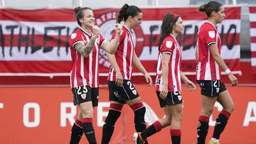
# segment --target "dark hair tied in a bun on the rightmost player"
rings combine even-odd
[[[207,4],[202,4],[199,6],[198,10],[201,12],[206,12],[206,15],[210,17],[210,14],[215,11],[216,13],[220,10],[220,4],[218,1],[209,1]]]

